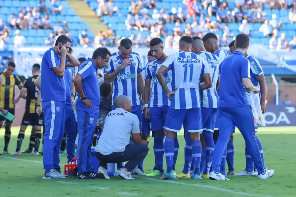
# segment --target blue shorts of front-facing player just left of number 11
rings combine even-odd
[[[165,128],[165,121],[168,116],[168,106],[149,108],[150,110],[150,122],[151,130],[157,131]]]

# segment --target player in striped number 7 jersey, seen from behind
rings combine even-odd
[[[198,36],[193,38],[193,53],[204,58],[209,64],[210,74],[212,77],[213,86],[202,91],[201,110],[202,110],[202,125],[203,125],[203,141],[205,141],[205,147],[202,148],[202,160],[201,160],[201,173],[202,178],[209,178],[209,172],[212,165],[213,151],[215,148],[213,132],[215,128],[216,116],[218,112],[219,97],[216,90],[216,84],[218,82],[218,72],[221,60],[218,56],[205,50],[202,39]],[[201,141],[202,141],[201,139]],[[189,139],[188,139],[189,140]],[[203,142],[202,142],[203,144]],[[186,149],[186,148],[185,148]],[[190,152],[189,149],[185,150]],[[185,155],[186,157],[186,155]],[[189,155],[187,155],[189,158]],[[203,159],[204,158],[204,159]],[[205,166],[206,164],[206,166]]]

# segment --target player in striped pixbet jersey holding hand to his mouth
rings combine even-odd
[[[118,52],[112,54],[108,66],[104,69],[104,81],[112,83],[112,109],[115,109],[114,99],[118,95],[125,95],[131,100],[132,113],[137,115],[142,125],[141,97],[144,91],[144,79],[142,75],[142,62],[138,53],[133,51],[133,43],[124,38],[120,41]],[[117,164],[120,169],[123,166]],[[137,175],[146,175],[143,172],[143,163],[133,170]]]

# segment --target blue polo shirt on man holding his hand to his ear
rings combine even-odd
[[[55,74],[52,68],[61,64],[61,56],[58,56],[53,48],[45,51],[41,61],[41,100],[42,101],[66,101],[65,79]],[[66,64],[68,60],[66,59]]]

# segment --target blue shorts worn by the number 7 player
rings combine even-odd
[[[214,132],[218,108],[202,108],[202,125],[204,131]]]

